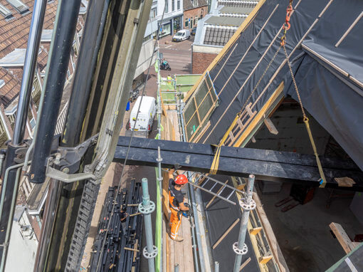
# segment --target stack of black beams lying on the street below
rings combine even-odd
[[[93,244],[91,272],[140,270],[143,225],[142,215],[137,214],[137,204],[142,201],[140,187],[140,182],[132,180],[130,187],[122,189],[121,192],[117,193],[117,187],[108,189],[98,224],[98,234]],[[112,214],[114,199],[116,204]],[[125,222],[122,222],[120,211],[137,215],[127,216]]]

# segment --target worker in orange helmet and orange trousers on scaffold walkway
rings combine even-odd
[[[169,206],[170,211],[172,211],[169,223],[170,238],[174,241],[180,242],[184,240],[183,237],[178,236],[178,230],[181,224],[181,214],[183,214],[183,211],[189,211],[189,205],[184,203],[184,195],[180,189],[188,183],[188,178],[184,174],[179,174],[174,179],[173,174],[174,169],[171,169],[169,171]]]

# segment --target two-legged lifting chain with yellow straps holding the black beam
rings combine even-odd
[[[324,171],[322,169],[322,164],[320,162],[319,155],[317,155],[317,148],[316,148],[316,145],[315,145],[315,142],[314,142],[314,138],[312,137],[312,132],[310,130],[309,118],[305,114],[305,110],[304,110],[304,107],[302,105],[302,100],[300,98],[300,93],[299,93],[299,90],[298,90],[298,85],[297,85],[296,80],[295,80],[295,76],[294,76],[294,73],[293,73],[293,69],[291,68],[291,63],[290,63],[290,60],[288,58],[288,52],[286,51],[286,48],[285,48],[285,44],[286,44],[286,33],[290,29],[290,16],[291,16],[292,13],[293,13],[293,0],[289,0],[289,5],[288,5],[288,8],[286,9],[285,22],[283,23],[283,36],[281,37],[280,46],[278,47],[277,51],[275,52],[275,55],[271,59],[270,63],[268,63],[268,66],[265,68],[263,74],[261,75],[261,78],[258,80],[258,83],[256,83],[256,86],[253,88],[251,94],[246,99],[246,102],[243,105],[243,107],[241,108],[240,112],[236,115],[236,117],[234,118],[232,124],[230,125],[230,127],[228,128],[228,130],[226,131],[226,133],[224,134],[221,142],[217,146],[216,154],[214,155],[214,159],[213,159],[213,162],[211,164],[211,169],[210,169],[209,174],[216,174],[216,172],[218,171],[218,167],[219,167],[219,157],[221,155],[221,146],[224,145],[224,142],[227,140],[228,135],[231,133],[231,130],[236,125],[238,118],[241,117],[241,114],[243,112],[243,109],[246,108],[246,105],[248,103],[248,100],[251,99],[251,97],[252,97],[253,93],[256,91],[258,85],[260,85],[261,80],[265,76],[265,73],[267,72],[268,68],[270,68],[271,64],[275,60],[276,56],[278,55],[278,52],[280,51],[281,48],[283,48],[283,51],[284,51],[285,57],[286,57],[286,61],[288,63],[288,67],[289,67],[289,70],[290,70],[291,78],[293,78],[293,83],[294,83],[295,91],[296,91],[296,94],[298,95],[298,100],[299,100],[300,108],[301,108],[301,111],[302,111],[303,121],[305,123],[305,127],[306,127],[306,130],[307,130],[307,134],[309,135],[309,139],[310,139],[310,142],[311,142],[311,145],[312,145],[312,150],[314,151],[315,159],[316,159],[316,162],[317,162],[317,168],[319,169],[319,174],[320,174],[320,188],[324,188],[325,187],[325,184],[327,182],[326,182],[326,179],[325,179]]]

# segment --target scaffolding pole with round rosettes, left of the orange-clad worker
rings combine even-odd
[[[151,214],[155,210],[155,204],[150,200],[147,179],[142,179],[142,203],[139,204],[139,211],[144,214],[146,246],[142,251],[149,262],[149,272],[155,271],[154,258],[157,256],[157,247],[152,241],[152,220]]]

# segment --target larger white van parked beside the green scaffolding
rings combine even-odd
[[[136,122],[135,131],[150,132],[152,129],[152,122],[154,122],[155,113],[157,113],[157,102],[155,98],[151,96],[144,96],[144,98],[142,98],[139,115],[137,115],[141,98],[141,96],[137,98],[136,103],[131,110],[129,127],[130,130],[133,130]]]

